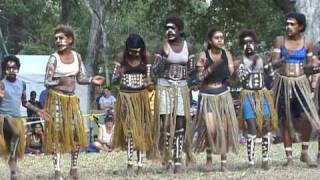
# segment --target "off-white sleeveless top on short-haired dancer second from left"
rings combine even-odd
[[[54,73],[54,77],[67,77],[67,76],[75,76],[79,72],[79,60],[77,53],[75,51],[71,51],[73,55],[73,63],[65,64],[61,61],[58,53],[54,53],[53,56],[57,60],[57,66]]]

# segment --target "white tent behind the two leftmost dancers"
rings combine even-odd
[[[17,55],[20,59],[21,67],[18,78],[26,82],[27,99],[30,99],[30,92],[37,92],[37,99],[44,87],[44,76],[49,55]],[[80,98],[80,108],[83,114],[89,112],[88,108],[88,86],[77,85],[76,94]],[[21,106],[21,114],[26,115],[27,110]]]

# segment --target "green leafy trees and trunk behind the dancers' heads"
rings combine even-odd
[[[287,3],[285,3],[287,2]],[[124,48],[129,33],[140,34],[152,52],[165,39],[163,22],[179,16],[185,38],[196,48],[206,48],[209,27],[222,28],[226,48],[235,59],[241,54],[237,36],[255,29],[260,51],[269,50],[282,34],[288,0],[3,0],[0,2],[0,57],[10,54],[51,54],[52,29],[59,23],[74,27],[75,49],[90,74],[109,75],[115,55]],[[2,32],[2,36],[1,36]]]

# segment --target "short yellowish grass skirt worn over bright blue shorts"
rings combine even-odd
[[[261,90],[246,90],[243,89],[240,93],[240,111],[239,111],[239,126],[244,127],[244,117],[243,117],[243,101],[244,98],[248,97],[251,106],[253,107],[253,110],[256,114],[256,124],[257,124],[257,129],[259,133],[262,133],[263,129],[263,102],[264,99],[266,99],[269,110],[270,110],[270,118],[268,119],[270,121],[270,126],[272,129],[278,129],[278,114],[277,111],[274,107],[274,102],[273,102],[273,95],[272,91],[268,90],[266,88],[263,88]]]

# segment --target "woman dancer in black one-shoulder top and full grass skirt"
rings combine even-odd
[[[202,81],[200,108],[195,132],[195,151],[207,150],[206,169],[212,168],[212,153],[221,155],[221,171],[227,170],[227,153],[237,152],[239,130],[236,112],[226,81],[234,72],[232,55],[223,49],[224,33],[208,31],[208,49],[197,62]]]

